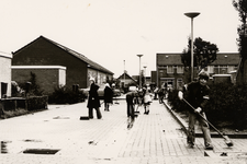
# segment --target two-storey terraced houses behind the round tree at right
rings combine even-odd
[[[211,77],[213,74],[228,74],[237,70],[239,54],[217,54],[217,59],[209,65],[204,70]],[[181,61],[181,54],[157,54],[156,55],[156,75],[157,86],[164,83],[170,84],[173,89],[179,89],[184,84],[184,67]],[[198,69],[194,68],[194,77]],[[151,79],[154,80],[154,79]]]

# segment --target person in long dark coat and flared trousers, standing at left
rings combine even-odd
[[[89,97],[88,97],[88,109],[89,109],[89,118],[93,118],[93,108],[97,112],[97,118],[101,119],[102,115],[100,112],[100,98],[98,94],[99,85],[96,84],[96,80],[90,78],[90,90],[89,90]]]

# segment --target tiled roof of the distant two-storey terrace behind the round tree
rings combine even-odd
[[[211,63],[215,65],[238,65],[240,56],[237,52],[220,52],[217,59]],[[180,66],[181,54],[157,54],[157,66]]]

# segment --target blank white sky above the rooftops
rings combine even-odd
[[[15,51],[41,35],[76,50],[114,72],[147,75],[157,52],[181,52],[191,20],[193,34],[216,44],[220,52],[238,52],[240,24],[232,0],[1,0],[0,51]],[[124,65],[125,60],[125,65]]]

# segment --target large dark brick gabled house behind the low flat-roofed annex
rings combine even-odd
[[[44,36],[40,36],[14,51],[12,66],[65,67],[66,85],[72,86],[74,84],[79,84],[79,87],[88,87],[91,77],[96,79],[98,84],[103,84],[106,79],[112,80],[114,74],[86,56]]]

